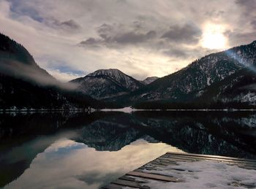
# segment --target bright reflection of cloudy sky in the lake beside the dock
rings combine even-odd
[[[97,151],[61,139],[39,153],[30,168],[7,188],[99,188],[170,151],[181,152],[176,147],[144,139],[116,152]]]

